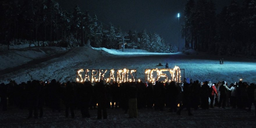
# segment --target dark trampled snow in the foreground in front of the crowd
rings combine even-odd
[[[254,109],[246,112],[239,109],[199,109],[193,110],[193,116],[188,116],[183,110],[181,115],[154,109],[138,110],[137,118],[128,118],[122,109],[107,109],[106,120],[97,120],[97,110],[89,110],[90,118],[82,118],[81,112],[75,110],[75,118],[65,118],[65,111],[52,112],[51,109],[44,109],[43,118],[26,119],[28,110],[10,109],[0,111],[0,127],[6,128],[255,128]]]

